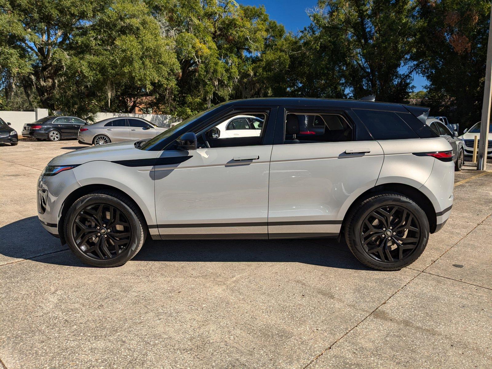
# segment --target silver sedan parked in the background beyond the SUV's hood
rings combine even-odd
[[[79,143],[84,145],[104,145],[111,142],[153,138],[166,128],[142,118],[115,117],[84,125],[79,129]]]

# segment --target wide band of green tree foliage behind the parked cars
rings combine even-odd
[[[297,34],[234,0],[0,0],[0,108],[189,117],[236,98],[430,104],[480,119],[489,4],[319,0]],[[412,73],[430,81],[411,92]]]

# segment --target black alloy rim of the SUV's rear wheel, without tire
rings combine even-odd
[[[407,258],[419,241],[420,229],[415,215],[397,205],[374,209],[362,224],[361,245],[379,262],[394,263]]]

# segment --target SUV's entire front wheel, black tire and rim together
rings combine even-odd
[[[75,201],[65,216],[64,230],[73,253],[96,267],[123,265],[137,254],[147,236],[137,206],[127,197],[105,190]]]

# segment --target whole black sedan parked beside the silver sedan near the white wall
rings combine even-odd
[[[87,124],[77,117],[50,116],[34,123],[24,124],[22,135],[37,140],[60,141],[62,138],[77,138],[81,126]]]

